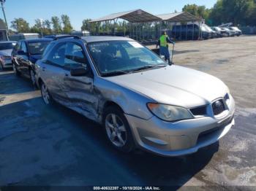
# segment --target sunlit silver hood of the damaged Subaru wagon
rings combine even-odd
[[[227,86],[216,77],[182,66],[108,77],[108,80],[158,103],[187,108],[209,104],[228,92]]]

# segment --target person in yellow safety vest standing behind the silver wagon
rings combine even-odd
[[[171,64],[170,61],[170,52],[169,52],[169,45],[168,43],[175,44],[175,42],[171,41],[169,36],[167,36],[167,33],[165,31],[162,32],[162,36],[160,36],[157,47],[160,47],[159,54],[165,56],[165,61],[168,61],[169,64]]]

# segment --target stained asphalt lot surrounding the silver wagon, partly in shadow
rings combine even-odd
[[[176,44],[177,65],[219,77],[237,104],[235,128],[218,143],[184,157],[118,152],[99,125],[63,106],[45,106],[28,80],[0,71],[0,185],[254,190],[255,48],[256,36]]]

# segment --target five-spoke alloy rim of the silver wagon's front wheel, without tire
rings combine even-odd
[[[108,139],[116,147],[124,147],[127,143],[127,130],[124,122],[117,114],[108,114],[105,118],[105,128],[107,130]]]

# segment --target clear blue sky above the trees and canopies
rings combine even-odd
[[[72,26],[80,30],[86,18],[95,19],[116,12],[143,9],[151,14],[164,14],[177,10],[181,12],[185,4],[214,6],[217,0],[6,0],[4,5],[7,22],[23,17],[30,26],[34,20],[50,19],[52,16],[69,15]],[[2,12],[0,17],[3,19]]]

